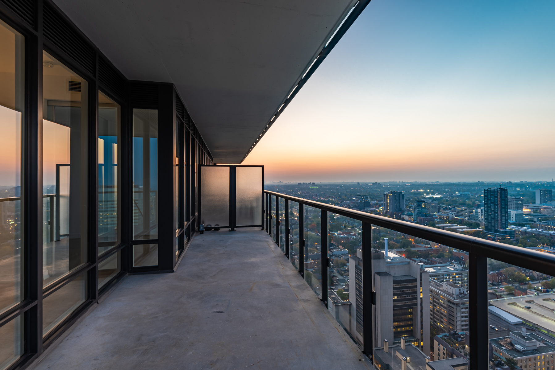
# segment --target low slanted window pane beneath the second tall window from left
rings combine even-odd
[[[42,334],[46,336],[87,300],[87,272],[42,300]]]

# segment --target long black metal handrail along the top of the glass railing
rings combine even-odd
[[[402,232],[411,236],[418,237],[443,244],[455,249],[472,252],[480,256],[488,257],[498,261],[510,263],[528,270],[538,271],[546,275],[555,273],[555,255],[522,247],[507,245],[479,237],[456,234],[452,231],[435,229],[434,227],[413,224],[412,222],[390,219],[389,217],[368,214],[362,211],[347,209],[330,204],[316,202],[313,200],[302,199],[296,196],[281,194],[275,191],[264,190],[265,193],[279,196],[283,199],[298,202],[307,206],[315,207],[320,210],[328,211],[351,219],[362,222],[369,222],[372,225],[385,227],[397,232]]]

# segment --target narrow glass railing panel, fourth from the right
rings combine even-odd
[[[305,261],[304,276],[306,283],[317,296],[322,296],[322,236],[320,234],[321,211],[304,206]],[[325,251],[324,251],[325,253]]]

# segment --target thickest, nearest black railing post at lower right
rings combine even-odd
[[[487,257],[468,254],[470,272],[468,293],[470,295],[470,368],[487,370],[489,350],[487,336]]]

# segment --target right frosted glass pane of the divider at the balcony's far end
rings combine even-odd
[[[262,224],[262,168],[236,168],[236,225]]]

